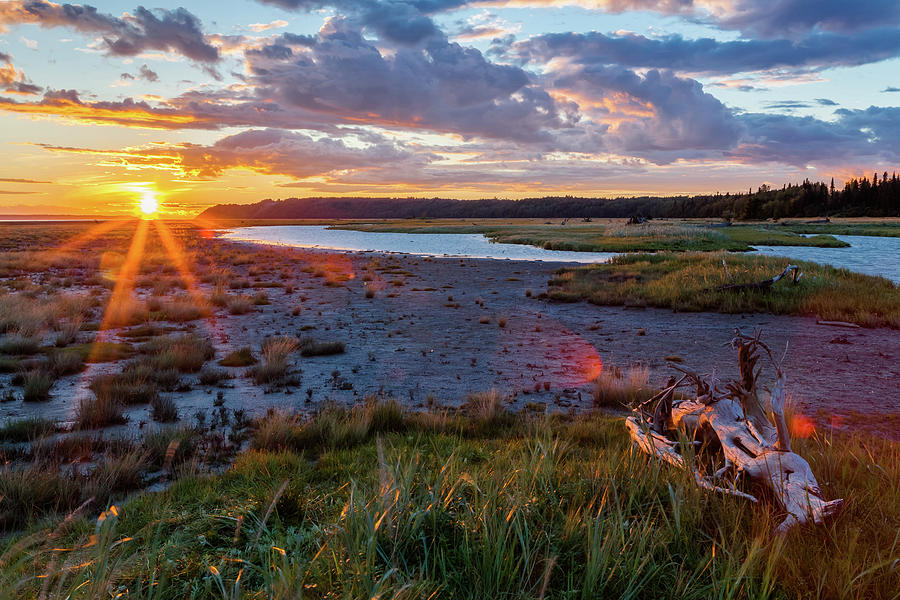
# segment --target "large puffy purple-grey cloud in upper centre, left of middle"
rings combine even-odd
[[[382,54],[337,18],[315,40],[248,52],[247,66],[258,95],[338,122],[536,141],[568,120],[525,71],[475,48],[439,36]]]

